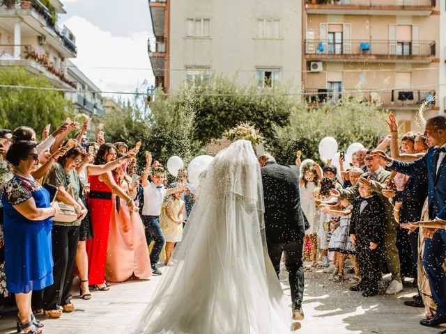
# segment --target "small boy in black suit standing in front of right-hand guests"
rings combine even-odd
[[[380,262],[385,230],[385,207],[374,191],[360,186],[351,217],[350,237],[356,246],[361,282],[351,291],[364,291],[362,296],[376,296],[380,281]]]

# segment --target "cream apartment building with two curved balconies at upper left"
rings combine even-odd
[[[59,0],[45,6],[39,0],[0,6],[0,68],[19,65],[43,74],[54,86],[76,88],[68,75],[66,59],[77,55],[75,35],[56,23],[66,13]]]

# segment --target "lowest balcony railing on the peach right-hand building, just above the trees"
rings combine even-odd
[[[380,106],[391,108],[403,106],[420,106],[424,103],[436,104],[435,90],[393,89],[376,92],[334,92],[326,88],[305,90],[305,100],[309,104],[322,102],[339,102],[342,99],[357,98],[364,102],[374,102]]]

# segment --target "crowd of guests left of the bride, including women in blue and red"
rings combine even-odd
[[[89,122],[45,127],[40,142],[29,127],[0,132],[0,309],[15,297],[17,331],[43,333],[35,314],[75,310],[74,278],[89,300],[107,282],[160,275],[156,264],[169,262],[194,204],[186,170],[166,189],[146,152],[139,176],[141,143],[105,143],[100,131],[89,141]]]

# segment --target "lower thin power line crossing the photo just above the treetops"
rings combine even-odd
[[[440,86],[446,86],[444,85],[424,85],[424,86],[413,86],[410,88],[403,88],[403,89],[411,89],[411,90],[422,90],[424,88],[426,89],[433,89],[438,88]],[[30,89],[30,90],[48,90],[48,91],[56,91],[56,92],[63,92],[63,93],[98,93],[98,94],[113,94],[113,95],[147,95],[146,92],[139,93],[139,92],[114,92],[114,91],[101,91],[101,90],[72,90],[72,89],[66,89],[66,88],[52,88],[52,87],[34,87],[34,86],[20,86],[20,85],[3,85],[0,84],[0,88],[17,88],[17,89]],[[342,93],[342,94],[360,94],[360,93],[379,93],[379,92],[391,92],[392,90],[397,90],[400,88],[375,88],[375,89],[357,89],[357,90],[342,90],[342,91],[328,91],[323,93],[275,93],[275,94],[268,94],[268,95],[276,95],[276,96],[307,96],[307,95],[318,95],[318,94],[330,94],[330,93]],[[400,89],[401,90],[401,89]],[[168,96],[177,96],[180,95],[178,93],[165,93],[165,95]],[[265,94],[258,93],[258,94],[252,94],[252,93],[246,93],[246,94],[198,94],[197,96],[205,96],[205,97],[231,97],[231,96],[239,96],[239,95],[245,95],[245,96],[263,96]]]

